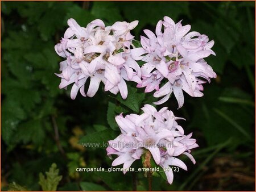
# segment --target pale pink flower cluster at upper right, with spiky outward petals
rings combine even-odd
[[[210,78],[216,77],[204,60],[215,55],[211,50],[214,41],[199,32],[189,32],[190,29],[190,25],[182,26],[181,21],[175,24],[164,16],[156,25],[156,35],[144,30],[147,37],[141,36],[142,48],[131,51],[135,60],[146,62],[141,68],[142,84],[137,87],[146,87],[145,92],[156,90],[154,97],[163,97],[156,105],[166,102],[173,92],[180,108],[184,103],[183,90],[192,97],[202,97],[204,80],[210,82]],[[162,80],[167,82],[159,89]]]

